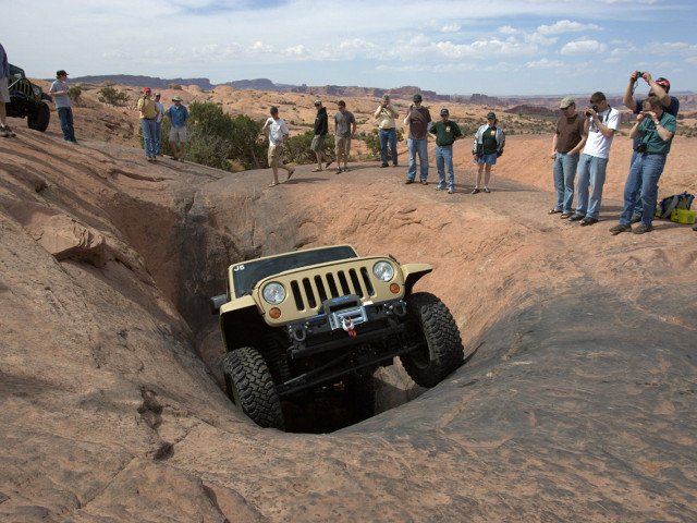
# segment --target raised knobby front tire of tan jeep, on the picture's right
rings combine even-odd
[[[460,330],[443,302],[428,292],[406,297],[407,342],[419,346],[400,360],[421,387],[435,387],[463,364]]]

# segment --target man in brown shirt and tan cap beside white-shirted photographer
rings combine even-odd
[[[562,218],[568,218],[573,214],[574,181],[580,156],[578,153],[586,145],[587,134],[584,130],[585,121],[576,112],[576,101],[572,97],[562,99],[559,108],[563,115],[557,121],[557,132],[552,138],[557,205],[549,214],[561,212]]]

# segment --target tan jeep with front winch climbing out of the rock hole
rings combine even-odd
[[[433,387],[464,351],[448,307],[412,293],[431,270],[359,257],[351,245],[231,265],[227,295],[211,299],[228,394],[258,425],[283,429],[281,399],[340,381],[360,387],[398,355],[416,384]]]

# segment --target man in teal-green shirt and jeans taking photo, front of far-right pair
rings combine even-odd
[[[624,184],[624,210],[620,216],[620,223],[610,229],[612,234],[632,231],[632,216],[637,194],[640,195],[644,211],[641,223],[632,232],[644,234],[653,229],[651,222],[656,214],[658,181],[665,167],[675,129],[675,117],[663,110],[663,102],[658,96],[649,96],[629,133],[631,138],[639,139],[636,148],[637,158],[632,162],[629,175]]]

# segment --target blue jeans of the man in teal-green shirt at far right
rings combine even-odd
[[[641,224],[650,226],[656,215],[658,180],[665,167],[665,155],[637,155],[632,162],[629,175],[624,184],[624,210],[620,223],[628,226],[636,207],[637,195],[641,202]]]

